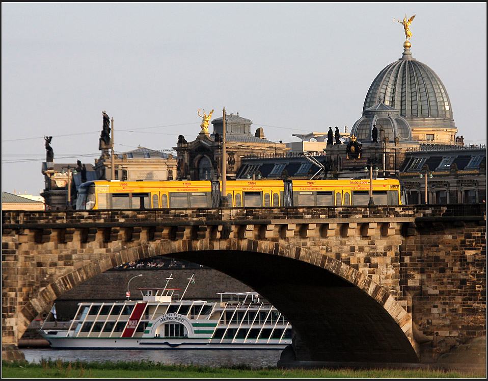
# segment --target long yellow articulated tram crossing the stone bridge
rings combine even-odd
[[[226,182],[228,206],[306,207],[406,204],[394,179],[235,180]],[[76,209],[217,208],[219,181],[91,181],[78,188]]]

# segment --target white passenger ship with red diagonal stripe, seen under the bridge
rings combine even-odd
[[[283,349],[291,344],[289,322],[256,292],[223,292],[220,301],[208,302],[178,298],[179,289],[140,291],[143,299],[137,301],[78,303],[68,329],[41,327],[39,332],[59,349]]]

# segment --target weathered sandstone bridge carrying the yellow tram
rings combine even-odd
[[[224,272],[294,327],[290,362],[429,363],[484,338],[484,205],[4,211],[2,354],[63,293],[167,255]],[[110,285],[107,285],[110,287]]]

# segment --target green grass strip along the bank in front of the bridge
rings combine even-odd
[[[485,378],[475,372],[398,369],[281,369],[167,365],[152,361],[2,362],[2,378]]]

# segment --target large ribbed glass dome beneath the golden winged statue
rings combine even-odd
[[[451,101],[438,75],[417,61],[410,43],[403,45],[403,56],[386,66],[374,79],[364,100],[363,111],[380,99],[400,111],[412,128],[455,129]]]

